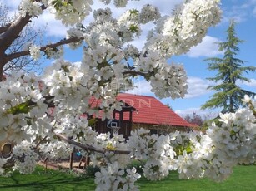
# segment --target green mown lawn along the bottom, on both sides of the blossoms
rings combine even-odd
[[[232,176],[223,183],[214,183],[208,179],[180,180],[177,173],[158,182],[146,179],[138,181],[141,191],[255,191],[256,166],[238,166]],[[9,178],[0,177],[0,190],[2,191],[31,191],[31,190],[86,190],[93,191],[95,185],[93,178],[75,177],[58,171],[43,171],[42,167],[30,175],[13,174]]]

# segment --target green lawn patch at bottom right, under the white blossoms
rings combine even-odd
[[[138,185],[141,191],[255,191],[256,166],[237,166],[233,174],[221,183],[209,179],[178,179],[178,173],[171,172],[161,182],[140,179]]]

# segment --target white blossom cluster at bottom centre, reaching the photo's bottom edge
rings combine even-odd
[[[100,171],[95,174],[96,190],[138,190],[134,183],[141,175],[135,168],[127,169],[127,165],[131,163],[131,155],[113,153],[117,149],[128,150],[128,144],[123,135],[113,134],[112,138],[110,133],[97,135],[93,146],[109,150],[104,154],[87,154],[93,165],[100,168]]]

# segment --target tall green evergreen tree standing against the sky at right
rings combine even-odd
[[[215,77],[210,77],[208,80],[218,83],[216,86],[208,86],[208,89],[216,91],[215,94],[208,100],[202,109],[222,107],[222,113],[234,112],[242,105],[244,95],[255,96],[252,91],[243,90],[238,86],[238,81],[248,81],[249,79],[243,76],[243,72],[255,71],[256,67],[243,66],[245,61],[242,61],[235,56],[239,52],[238,44],[243,42],[236,37],[235,22],[231,21],[227,30],[228,37],[226,42],[218,42],[218,50],[224,52],[223,58],[208,58],[208,70],[218,71]],[[221,81],[221,83],[219,83]]]

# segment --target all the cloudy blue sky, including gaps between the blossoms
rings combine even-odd
[[[3,4],[11,7],[10,14],[13,14],[13,10],[17,10],[18,3],[20,0],[0,0]],[[151,3],[157,5],[162,12],[162,15],[172,12],[173,7],[183,0],[141,0],[141,1],[129,1],[128,7],[142,7],[143,4]],[[103,5],[96,1],[93,8],[102,7]],[[193,47],[186,55],[175,56],[170,58],[170,62],[183,63],[185,70],[188,75],[188,95],[183,99],[171,100],[163,99],[161,100],[165,104],[171,105],[174,111],[180,115],[185,115],[193,111],[198,112],[202,115],[211,115],[218,110],[200,110],[200,106],[203,105],[209,97],[213,95],[213,91],[208,91],[207,87],[212,85],[213,82],[207,81],[207,77],[213,77],[214,72],[208,71],[207,62],[203,61],[208,57],[218,56],[222,57],[222,52],[218,51],[218,46],[215,42],[225,41],[226,33],[228,28],[229,20],[231,18],[235,19],[237,23],[236,32],[237,36],[244,42],[240,44],[240,52],[238,58],[246,62],[246,66],[256,66],[256,0],[223,0],[222,1],[223,18],[222,22],[216,27],[212,27],[208,30],[208,34],[203,38],[197,47]],[[118,15],[120,12],[116,11],[113,15]],[[92,17],[83,22],[84,25],[92,20]],[[53,16],[49,13],[45,13],[35,20],[36,27],[46,27],[46,34],[52,42],[57,41],[60,38],[65,37],[65,27],[53,19]],[[143,26],[143,29],[147,31],[152,27],[150,24]],[[135,45],[141,47],[143,45],[144,37],[146,33],[143,33],[142,39],[134,42]],[[81,61],[82,51],[69,51],[66,49],[65,59],[69,61]],[[43,66],[48,66],[51,61],[43,60]],[[244,89],[248,91],[256,91],[256,76],[255,73],[250,73],[245,75],[251,79],[251,83],[240,83]],[[136,94],[143,94],[148,96],[153,96],[150,92],[150,87],[145,81],[137,81],[138,89],[133,91]]]

